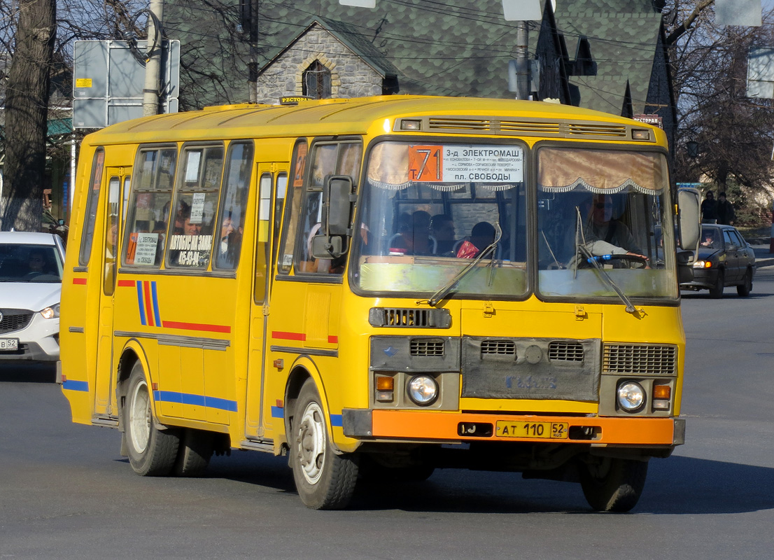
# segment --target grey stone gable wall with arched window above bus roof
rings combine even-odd
[[[331,97],[382,94],[382,77],[333,35],[314,26],[259,74],[259,102],[277,103],[283,96],[302,94],[303,71],[314,60],[330,70]]]

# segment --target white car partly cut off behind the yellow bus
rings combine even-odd
[[[0,364],[59,359],[59,235],[0,232]]]

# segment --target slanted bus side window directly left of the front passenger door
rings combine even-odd
[[[239,264],[242,235],[245,230],[247,196],[252,177],[253,145],[249,142],[228,146],[225,177],[221,189],[221,208],[216,222],[214,268],[235,270]]]

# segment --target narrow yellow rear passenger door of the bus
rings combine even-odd
[[[115,395],[115,369],[113,362],[113,292],[118,271],[118,239],[120,239],[122,192],[128,187],[129,176],[124,170],[131,167],[105,167],[107,201],[104,206],[104,239],[101,253],[101,290],[99,296],[99,322],[97,342],[97,378],[94,391],[94,414],[111,416],[117,409]],[[111,402],[112,401],[112,402]]]

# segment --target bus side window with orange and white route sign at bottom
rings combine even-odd
[[[170,177],[174,176],[176,159],[174,146],[149,146],[137,152],[124,228],[124,265],[158,267],[161,264],[170,220]]]

